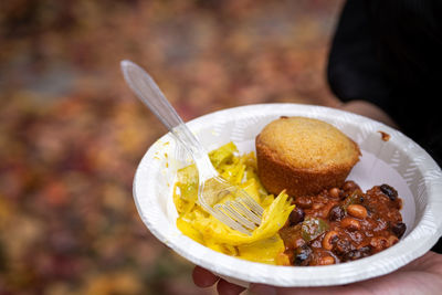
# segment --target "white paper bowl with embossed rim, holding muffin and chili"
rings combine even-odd
[[[348,179],[366,191],[376,185],[394,187],[403,199],[407,232],[399,243],[372,256],[327,266],[274,266],[224,255],[183,235],[176,226],[172,186],[189,156],[170,134],[146,152],[134,180],[134,198],[143,221],[161,242],[190,262],[230,282],[276,286],[325,286],[361,281],[392,272],[423,255],[442,235],[442,172],[435,161],[403,134],[355,114],[312,105],[264,104],[235,107],[188,123],[208,150],[233,141],[240,151],[254,149],[254,138],[280,116],[306,116],[328,122],[359,144],[361,160]],[[390,135],[388,141],[379,131]]]

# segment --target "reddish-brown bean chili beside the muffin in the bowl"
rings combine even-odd
[[[376,254],[407,230],[394,188],[375,186],[364,193],[354,181],[317,196],[294,199],[296,208],[280,230],[292,265],[327,265]]]

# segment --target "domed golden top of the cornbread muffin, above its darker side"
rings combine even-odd
[[[339,129],[307,117],[282,117],[270,123],[256,145],[271,151],[277,161],[313,170],[352,166],[360,155],[357,144]]]

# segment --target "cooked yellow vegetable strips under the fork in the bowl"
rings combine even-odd
[[[178,229],[192,240],[224,254],[269,264],[286,264],[281,255],[284,243],[278,230],[294,208],[288,196],[285,192],[276,198],[267,194],[256,176],[254,154],[238,156],[233,143],[211,151],[209,157],[221,177],[244,189],[264,208],[262,223],[252,235],[246,235],[207,213],[198,203],[198,171],[194,165],[190,165],[178,170],[173,189]],[[228,198],[232,197],[221,202],[228,201]]]

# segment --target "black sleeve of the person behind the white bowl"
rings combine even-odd
[[[378,105],[427,145],[442,129],[434,107],[442,97],[441,52],[442,1],[348,0],[332,41],[328,83],[343,102]],[[410,119],[417,114],[425,122]]]

